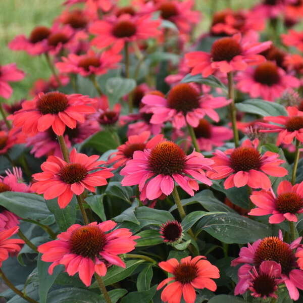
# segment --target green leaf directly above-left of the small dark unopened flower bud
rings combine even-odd
[[[142,206],[136,209],[135,216],[141,228],[147,225],[161,225],[167,221],[175,220],[171,213]]]

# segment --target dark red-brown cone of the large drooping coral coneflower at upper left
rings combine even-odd
[[[43,114],[59,114],[68,107],[68,98],[62,92],[47,92],[37,101],[37,109]]]

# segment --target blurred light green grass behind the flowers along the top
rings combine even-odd
[[[203,12],[204,21],[200,27],[208,28],[210,4],[216,1],[218,9],[229,5],[230,0],[196,0],[197,8]],[[233,8],[248,7],[251,0],[231,0]],[[31,57],[25,52],[14,52],[8,48],[8,42],[16,35],[31,32],[34,26],[51,26],[52,21],[63,10],[64,0],[0,0],[0,65],[16,62],[18,68],[26,73],[24,80],[11,83],[14,93],[10,102],[28,96],[28,90],[38,78],[47,78],[51,75],[44,57]],[[120,0],[126,5],[129,0]]]

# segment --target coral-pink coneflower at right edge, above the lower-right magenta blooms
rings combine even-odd
[[[296,214],[303,213],[303,182],[292,186],[289,181],[281,181],[277,194],[273,190],[253,191],[250,199],[257,208],[248,215],[272,215],[269,217],[271,224],[279,224],[285,219],[297,222]]]

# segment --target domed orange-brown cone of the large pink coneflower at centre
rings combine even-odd
[[[186,155],[174,142],[158,143],[150,151],[149,167],[155,174],[173,175],[183,171]]]

